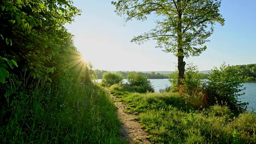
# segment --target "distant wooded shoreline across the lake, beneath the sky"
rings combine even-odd
[[[244,64],[244,65],[236,65],[236,66],[228,66],[228,69],[235,70],[238,74],[238,80],[245,81],[245,82],[255,82],[256,81],[256,64]],[[106,70],[94,70],[95,74],[97,75],[98,79],[102,79],[102,75]],[[118,71],[121,73],[124,78],[130,73],[128,71]],[[156,72],[138,72],[138,74],[146,76],[149,79],[166,79],[169,78],[170,74],[162,74]],[[209,74],[205,74],[204,79],[207,78]]]

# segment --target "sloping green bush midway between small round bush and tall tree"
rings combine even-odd
[[[130,72],[126,76],[126,79],[128,80],[128,83],[130,84],[130,86],[136,87],[137,91],[154,92],[152,82],[150,82],[150,80],[148,80],[148,78],[146,76],[138,74],[137,72]]]

